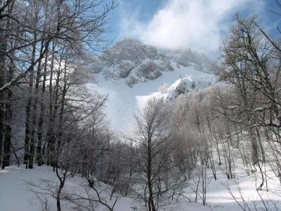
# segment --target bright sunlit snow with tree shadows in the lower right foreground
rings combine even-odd
[[[281,198],[280,195],[276,193],[280,193],[280,183],[276,177],[268,172],[268,175],[272,176],[271,179],[268,181],[268,191],[265,190],[266,184],[263,186],[263,191],[256,191],[256,186],[260,185],[261,179],[259,175],[257,175],[258,179],[256,181],[256,177],[254,174],[248,176],[244,170],[236,169],[235,172],[236,178],[234,179],[226,179],[226,175],[223,175],[222,172],[219,172],[218,179],[214,181],[214,178],[211,176],[211,170],[209,170],[209,174],[207,176],[207,180],[209,184],[207,185],[207,207],[211,210],[228,210],[228,211],[235,211],[235,210],[242,210],[240,206],[235,202],[234,198],[231,196],[230,191],[228,191],[227,186],[229,186],[233,196],[235,196],[236,200],[243,205],[243,200],[247,202],[249,208],[251,210],[255,210],[254,206],[257,207],[257,210],[265,210],[263,206],[263,202],[259,197],[259,193],[263,197],[263,200],[270,208],[269,210],[275,210],[275,205],[277,207],[281,207]],[[192,179],[197,182],[197,179]],[[238,190],[241,190],[242,195]],[[190,188],[185,190],[185,196],[188,198],[195,198],[194,191],[191,191]],[[200,193],[202,195],[202,193]],[[198,199],[198,203],[202,200]],[[246,209],[247,210],[247,209]]]

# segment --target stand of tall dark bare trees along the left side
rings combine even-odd
[[[105,17],[112,8],[100,1],[1,2],[2,168],[11,152],[22,149],[26,167],[34,161],[54,167],[67,128],[103,106],[105,97],[82,90],[86,75],[79,70],[86,51],[105,47]],[[24,144],[12,135],[15,121],[25,125]]]

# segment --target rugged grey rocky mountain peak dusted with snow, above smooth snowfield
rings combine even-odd
[[[211,60],[190,49],[168,51],[143,44],[136,39],[118,41],[93,63],[93,71],[107,80],[124,82],[129,87],[162,77],[164,72],[192,66],[211,72]]]

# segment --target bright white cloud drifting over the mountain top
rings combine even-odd
[[[237,11],[263,9],[263,0],[169,0],[148,23],[137,11],[123,11],[122,37],[136,37],[166,49],[214,53]]]

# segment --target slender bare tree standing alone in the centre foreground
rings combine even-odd
[[[157,210],[162,198],[169,200],[171,192],[175,187],[180,189],[183,181],[181,176],[172,174],[176,171],[173,158],[177,145],[172,138],[173,129],[167,127],[168,116],[169,108],[162,101],[148,101],[136,117],[137,133],[131,139],[137,148],[133,167],[138,179],[134,191],[148,203],[149,210]]]

